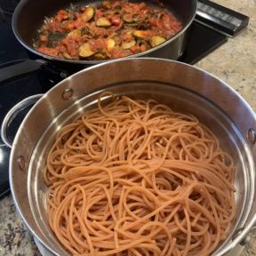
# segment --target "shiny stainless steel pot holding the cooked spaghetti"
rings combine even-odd
[[[252,108],[228,84],[201,69],[149,58],[110,61],[68,77],[44,94],[20,125],[10,159],[11,189],[36,240],[54,255],[68,255],[46,220],[45,156],[60,127],[92,107],[105,90],[156,99],[196,115],[215,132],[236,159],[236,221],[213,255],[225,255],[243,244],[256,220],[256,116]]]

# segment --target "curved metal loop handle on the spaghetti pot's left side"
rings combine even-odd
[[[2,140],[4,141],[4,144],[8,148],[12,148],[12,141],[9,140],[7,136],[9,124],[23,109],[28,108],[30,105],[36,103],[36,101],[39,100],[43,95],[44,94],[36,94],[36,95],[29,96],[24,100],[21,100],[8,111],[6,116],[4,116],[4,120],[1,126],[1,137],[2,137]]]

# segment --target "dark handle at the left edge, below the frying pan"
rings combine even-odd
[[[40,69],[45,63],[44,60],[21,60],[17,64],[14,64],[16,61],[10,61],[4,64],[4,67],[1,68],[0,72],[0,83],[5,82],[13,77],[22,76],[35,72]]]

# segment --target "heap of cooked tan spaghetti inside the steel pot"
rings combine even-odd
[[[60,130],[47,158],[60,243],[74,255],[211,254],[235,218],[231,157],[195,116],[100,99]]]

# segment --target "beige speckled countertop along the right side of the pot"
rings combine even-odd
[[[215,0],[250,17],[249,26],[234,39],[196,63],[232,86],[256,112],[256,0]],[[241,256],[256,255],[256,231]]]

